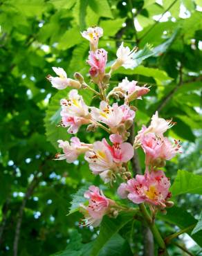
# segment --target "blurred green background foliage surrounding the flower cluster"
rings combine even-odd
[[[135,103],[135,130],[147,124],[156,110],[165,119],[172,117],[177,125],[169,136],[182,141],[183,153],[167,163],[167,175],[174,181],[178,169],[201,174],[201,11],[201,0],[0,1],[1,255],[51,255],[64,250],[69,241],[73,242],[66,254],[58,255],[84,255],[79,251],[81,241],[85,244],[98,235],[98,228],[79,227],[81,214],[66,216],[71,194],[86,181],[104,186],[82,158],[71,165],[52,160],[59,150],[57,139],[68,138],[66,129],[56,127],[59,99],[66,91],[57,92],[45,79],[48,73],[53,75],[52,66],[60,66],[69,77],[79,71],[89,81],[85,62],[89,44],[80,35],[88,26],[104,28],[100,48],[109,52],[109,65],[122,41],[140,49],[147,43],[153,46],[152,56],[134,70],[120,68],[111,78],[111,88],[125,75],[151,86],[150,93]],[[87,104],[98,104],[90,93],[83,93]],[[79,133],[82,141],[90,143],[104,135],[100,129],[87,134],[86,127]],[[143,152],[138,154],[143,167]],[[115,188],[106,193],[116,199]],[[196,219],[200,191],[174,199]],[[162,225],[163,220],[159,222],[163,236],[178,230],[175,221],[168,226]],[[183,214],[181,221],[187,221]],[[143,255],[140,231],[140,223],[129,223],[99,255],[131,255],[131,251]],[[187,235],[179,242],[200,254]],[[174,246],[169,253],[183,255]]]

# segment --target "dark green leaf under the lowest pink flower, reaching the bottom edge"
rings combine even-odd
[[[107,241],[113,237],[118,231],[125,226],[131,219],[133,219],[134,214],[132,213],[122,213],[119,214],[116,219],[110,219],[105,216],[102,220],[100,226],[100,234],[93,244],[93,248],[89,255],[96,256],[99,255],[100,250],[107,244]]]

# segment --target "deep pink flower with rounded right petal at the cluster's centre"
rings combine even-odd
[[[123,143],[122,137],[119,134],[111,134],[109,139],[113,145],[109,145],[105,139],[104,144],[111,152],[115,163],[127,163],[127,161],[134,156],[134,148],[132,145],[130,143]]]

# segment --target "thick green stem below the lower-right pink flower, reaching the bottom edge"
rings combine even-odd
[[[147,222],[147,225],[149,226],[150,230],[152,231],[152,234],[154,235],[154,239],[156,239],[156,242],[158,243],[158,246],[160,247],[161,250],[163,250],[164,255],[167,256],[167,250],[165,246],[165,242],[163,241],[163,238],[160,235],[160,232],[158,231],[158,228],[156,228],[156,225],[154,221],[152,221],[152,218],[145,208],[144,203],[140,203],[139,205],[140,211],[143,214],[143,217],[145,218],[145,221]]]

